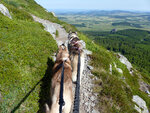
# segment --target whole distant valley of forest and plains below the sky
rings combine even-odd
[[[57,15],[108,50],[121,52],[150,76],[149,12],[70,11]]]

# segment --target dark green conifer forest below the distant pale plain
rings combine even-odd
[[[96,43],[110,51],[121,52],[140,71],[150,73],[150,32],[126,29],[116,32],[86,31]]]

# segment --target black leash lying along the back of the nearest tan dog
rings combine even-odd
[[[64,62],[62,63],[61,82],[60,82],[60,94],[59,94],[59,113],[62,113],[62,107],[65,105],[63,98],[63,86],[64,86]]]

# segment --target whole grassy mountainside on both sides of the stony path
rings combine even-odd
[[[33,22],[29,15],[35,14],[44,19],[62,24],[67,31],[76,30],[74,27],[59,21],[45,12],[32,0],[2,1],[12,12],[13,20],[0,14],[0,92],[3,96],[1,112],[10,112],[19,102],[28,96],[29,91],[36,86],[47,69],[47,58],[56,51],[56,43],[43,30],[43,26]],[[18,9],[19,7],[23,9]],[[37,10],[38,9],[38,10]],[[23,16],[19,16],[23,15]],[[21,18],[22,17],[22,18]],[[95,67],[93,73],[102,80],[95,81],[95,91],[99,93],[99,109],[103,112],[135,112],[131,101],[133,94],[140,94],[146,100],[148,96],[138,90],[137,75],[130,76],[127,68],[121,64],[113,53],[92,43],[86,36],[79,33],[86,42],[87,49],[93,52],[91,64]],[[113,75],[109,74],[109,64],[116,62],[123,69],[119,74],[113,66]],[[51,65],[51,64],[50,64]],[[126,76],[126,82],[121,77]],[[131,87],[127,87],[129,84]],[[28,98],[17,108],[17,112],[34,113],[39,110],[40,85],[38,84]]]

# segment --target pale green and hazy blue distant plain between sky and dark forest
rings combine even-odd
[[[109,12],[109,11],[108,11]],[[75,25],[81,31],[111,31],[112,29],[145,29],[150,30],[150,13],[136,13],[123,11],[91,11],[71,13],[58,13],[59,19]],[[128,22],[114,26],[114,23]],[[82,27],[84,23],[85,26]],[[129,25],[130,23],[130,25]],[[133,25],[132,25],[133,24]],[[80,25],[80,26],[79,26]],[[140,26],[140,27],[137,27]]]

